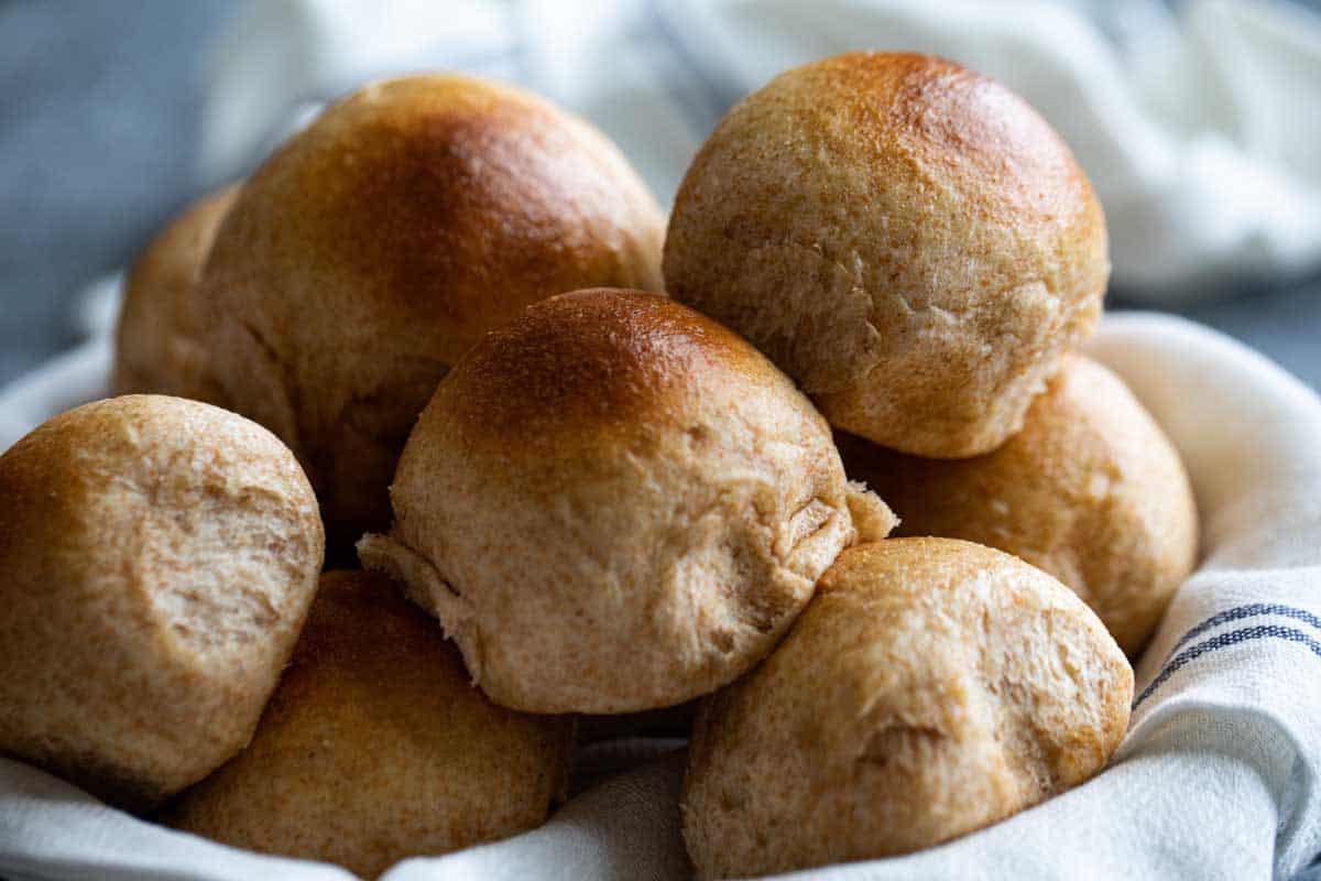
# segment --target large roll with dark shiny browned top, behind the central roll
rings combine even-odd
[[[466,77],[367,86],[244,186],[201,285],[222,402],[299,454],[333,540],[454,361],[543,297],[660,289],[663,217],[609,140]]]

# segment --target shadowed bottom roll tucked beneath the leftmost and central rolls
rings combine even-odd
[[[328,572],[252,745],[165,820],[374,878],[540,826],[572,721],[495,707],[391,581]]]

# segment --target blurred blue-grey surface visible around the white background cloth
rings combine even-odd
[[[0,0],[0,384],[78,342],[82,285],[197,194],[203,48],[231,8]],[[1321,388],[1321,276],[1184,313]]]

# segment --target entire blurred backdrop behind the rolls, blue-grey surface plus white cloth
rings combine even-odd
[[[373,77],[520,82],[668,202],[774,73],[918,49],[1003,79],[1074,147],[1111,308],[1186,314],[1321,388],[1318,4],[0,0],[0,386],[104,333],[114,273],[165,221]]]

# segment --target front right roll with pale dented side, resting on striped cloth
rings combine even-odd
[[[1132,695],[1100,621],[1040,569],[954,539],[844,551],[697,713],[688,853],[719,878],[946,841],[1099,771]]]

